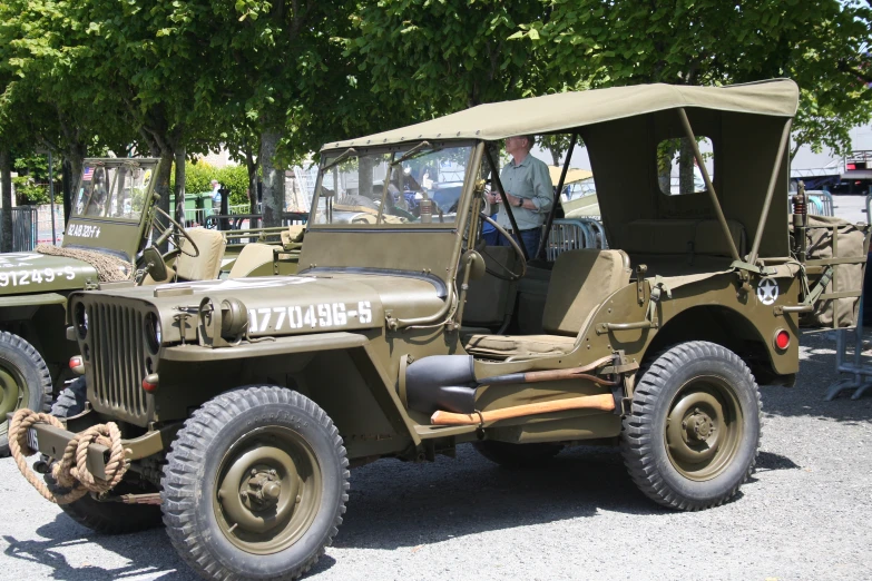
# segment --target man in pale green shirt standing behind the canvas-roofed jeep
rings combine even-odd
[[[506,190],[506,198],[512,206],[515,221],[520,232],[511,232],[511,221],[506,208],[500,206],[497,223],[509,230],[512,236],[527,248],[527,256],[536,258],[539,240],[542,236],[542,224],[553,204],[553,186],[551,175],[545,161],[530,155],[535,138],[531,135],[506,138],[506,151],[512,160],[500,171],[500,181]],[[496,187],[488,195],[491,204],[500,204],[502,199]],[[508,240],[500,237],[499,246],[508,246]]]

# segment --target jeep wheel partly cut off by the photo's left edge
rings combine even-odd
[[[51,374],[39,352],[18,335],[0,332],[0,456],[9,455],[6,414],[27,407],[48,412]]]

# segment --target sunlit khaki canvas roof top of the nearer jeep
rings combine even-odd
[[[381,134],[332,141],[322,148],[365,147],[417,139],[496,140],[516,135],[560,132],[647,112],[697,107],[772,117],[793,117],[800,91],[790,79],[725,87],[634,85],[561,92],[479,105],[452,115]]]

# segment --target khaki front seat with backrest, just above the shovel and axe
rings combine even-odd
[[[545,335],[469,335],[471,355],[509,358],[562,355],[575,348],[600,304],[629,284],[624,250],[568,250],[557,257],[545,301]]]

